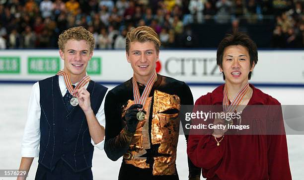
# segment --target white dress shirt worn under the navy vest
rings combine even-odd
[[[62,76],[59,76],[59,88],[61,90],[62,96],[67,92],[66,84]],[[75,84],[77,86],[78,83]],[[88,83],[84,86],[88,87]],[[106,94],[108,93],[108,90]],[[104,98],[106,96],[104,95]],[[27,110],[27,121],[24,128],[24,135],[21,145],[21,157],[38,157],[39,156],[39,143],[40,143],[40,90],[39,83],[33,85],[31,92],[29,106]],[[105,115],[104,115],[104,100],[98,109],[96,118],[100,125],[105,127]],[[104,140],[98,144],[95,144],[91,139],[93,146],[100,150],[103,150]]]

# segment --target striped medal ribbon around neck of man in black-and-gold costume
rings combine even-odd
[[[149,97],[150,91],[152,89],[152,86],[155,82],[155,79],[157,77],[156,71],[154,71],[152,77],[150,78],[150,80],[148,81],[147,86],[144,89],[144,92],[142,94],[142,96],[140,96],[139,90],[138,90],[138,86],[137,86],[137,82],[136,82],[136,78],[133,75],[133,95],[134,95],[134,102],[135,104],[142,104],[143,108],[147,102],[147,99]],[[139,110],[143,110],[143,108],[140,108]]]

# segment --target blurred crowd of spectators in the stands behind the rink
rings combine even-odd
[[[127,32],[151,26],[163,47],[188,47],[191,24],[258,23],[276,19],[269,47],[303,48],[301,0],[0,0],[0,49],[57,48],[58,35],[84,26],[95,48],[124,49]],[[242,30],[242,29],[239,29]],[[210,32],[212,33],[212,32]],[[200,34],[196,34],[199,36]]]

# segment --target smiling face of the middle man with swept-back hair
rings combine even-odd
[[[159,52],[152,41],[130,43],[126,56],[139,83],[147,84],[155,71],[158,55]]]

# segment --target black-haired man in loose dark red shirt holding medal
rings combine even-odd
[[[209,134],[190,131],[188,156],[195,166],[202,168],[203,177],[207,180],[292,179],[282,111],[272,111],[272,115],[268,114],[259,122],[250,119],[253,113],[258,116],[264,111],[249,111],[248,105],[277,105],[281,110],[278,100],[248,84],[257,61],[257,47],[249,36],[241,32],[227,35],[217,51],[217,64],[225,84],[195,102],[196,109],[199,108],[197,105],[221,105],[224,112],[240,114],[239,119],[230,121],[219,117],[208,119],[206,123],[227,125],[226,128],[212,129]],[[256,132],[262,131],[260,127],[263,124],[267,133],[231,134],[231,131],[235,132],[228,129],[231,121],[238,126],[251,123],[250,128],[258,127],[253,130]]]

